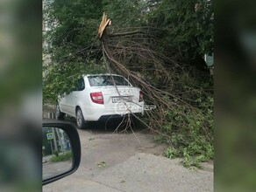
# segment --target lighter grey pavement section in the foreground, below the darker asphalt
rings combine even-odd
[[[68,177],[58,181],[57,188],[46,185],[43,191],[74,192],[203,192],[213,191],[213,165],[191,170],[180,160],[169,160],[154,154],[139,153],[115,166],[104,169],[91,179]],[[75,173],[77,174],[77,173]],[[74,175],[75,175],[74,174]],[[56,190],[57,189],[57,190]]]

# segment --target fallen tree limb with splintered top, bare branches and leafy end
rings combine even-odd
[[[146,95],[146,110],[139,119],[167,141],[168,157],[184,157],[184,165],[199,166],[213,158],[213,95],[209,76],[175,62],[155,49],[155,29],[110,33],[111,20],[103,14],[98,30],[107,70],[122,74]],[[131,30],[131,29],[130,29]],[[111,30],[110,30],[111,31]],[[207,83],[200,80],[208,79]],[[151,81],[151,82],[150,82]],[[131,127],[131,120],[127,127]]]

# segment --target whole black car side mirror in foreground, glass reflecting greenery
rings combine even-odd
[[[81,160],[81,144],[76,128],[67,122],[44,121],[42,156],[43,185],[74,173]]]

